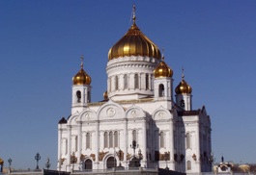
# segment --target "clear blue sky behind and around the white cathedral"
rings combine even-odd
[[[0,1],[0,157],[35,168],[57,164],[57,124],[71,113],[80,55],[92,99],[106,90],[107,53],[136,23],[193,88],[193,109],[212,118],[216,162],[256,162],[256,1]]]

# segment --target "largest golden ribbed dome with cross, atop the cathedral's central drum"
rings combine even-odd
[[[161,54],[156,44],[147,38],[135,23],[135,7],[133,5],[133,24],[127,34],[109,49],[108,61],[119,57],[147,56],[160,60]]]

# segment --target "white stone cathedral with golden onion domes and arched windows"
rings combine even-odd
[[[107,90],[92,102],[93,76],[81,67],[72,78],[71,115],[58,124],[62,171],[167,168],[212,171],[211,119],[192,110],[192,88],[173,85],[173,70],[136,24],[108,52]]]

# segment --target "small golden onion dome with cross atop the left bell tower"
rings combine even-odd
[[[83,56],[81,56],[81,69],[72,78],[72,85],[90,85],[91,77],[83,69]]]

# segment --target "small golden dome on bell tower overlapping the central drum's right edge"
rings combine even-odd
[[[156,66],[156,69],[154,70],[154,76],[155,76],[155,78],[172,77],[173,76],[173,71],[166,63],[161,61]]]

